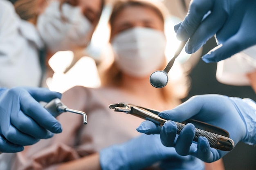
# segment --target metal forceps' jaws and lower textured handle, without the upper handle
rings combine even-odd
[[[110,109],[113,108],[115,108],[115,111],[117,112],[129,113],[142,119],[153,121],[156,124],[159,124],[160,126],[163,126],[164,123],[168,121],[146,110],[145,108],[133,106],[126,103],[124,103],[123,106],[121,106],[121,103],[110,105]],[[177,125],[177,134],[179,135],[181,130],[184,128],[185,124],[179,122],[175,122],[175,124]],[[193,141],[198,142],[198,138],[200,136],[206,137],[208,139],[211,148],[223,151],[230,151],[234,148],[234,141],[229,137],[195,128],[195,136]]]

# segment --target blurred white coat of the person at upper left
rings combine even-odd
[[[0,0],[0,87],[39,86],[43,47],[36,27],[21,20],[11,2]]]

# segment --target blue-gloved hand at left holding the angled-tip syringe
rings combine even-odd
[[[23,146],[62,131],[61,124],[38,102],[61,98],[46,88],[0,89],[0,152],[19,152]]]

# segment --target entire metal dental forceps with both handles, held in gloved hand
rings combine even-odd
[[[157,110],[134,106],[128,103],[110,104],[109,108],[115,109],[116,112],[129,113],[142,119],[153,121],[159,126],[163,126],[164,123],[168,121],[166,119],[162,119],[161,117],[159,117],[159,111]],[[196,127],[195,137],[193,141],[198,142],[198,138],[202,136],[208,139],[211,148],[223,151],[230,151],[234,148],[234,141],[229,138],[229,133],[226,130],[194,119],[188,119],[182,122],[184,124],[175,122],[175,124],[177,125],[178,135],[184,128],[185,124],[189,122],[193,123]],[[200,129],[198,127],[200,127]]]

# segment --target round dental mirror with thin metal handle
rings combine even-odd
[[[180,52],[186,45],[186,41],[183,41],[180,43],[178,49],[176,50],[174,57],[171,59],[171,61],[167,64],[167,66],[162,71],[155,71],[150,75],[149,81],[150,84],[156,88],[162,88],[166,86],[168,83],[168,72],[170,71],[171,67],[173,66],[173,63],[178,55],[180,55]]]

